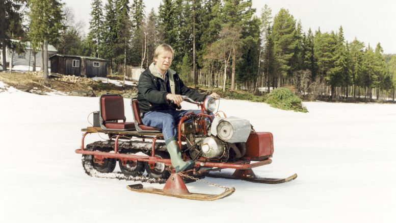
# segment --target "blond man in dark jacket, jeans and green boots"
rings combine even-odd
[[[179,145],[176,141],[176,123],[183,114],[200,110],[176,110],[183,101],[181,95],[187,95],[194,101],[202,102],[206,95],[200,94],[184,85],[176,71],[170,69],[174,51],[170,45],[162,44],[156,47],[153,63],[139,78],[138,103],[143,113],[145,126],[162,129],[172,166],[176,172],[194,167],[194,161],[183,161]],[[217,93],[210,94],[219,97]],[[173,101],[174,105],[168,102]],[[175,106],[176,105],[176,106]]]

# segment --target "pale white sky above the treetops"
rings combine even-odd
[[[83,20],[85,32],[89,28],[91,1],[63,0],[74,10],[75,20]],[[105,1],[103,1],[105,2]],[[131,2],[131,0],[130,0]],[[281,8],[288,9],[295,19],[301,20],[303,30],[322,32],[338,31],[342,26],[347,41],[356,37],[366,45],[375,47],[381,43],[384,53],[396,54],[396,1],[390,0],[252,0],[253,8],[259,16],[261,9],[267,4],[273,16]],[[144,1],[146,12],[151,8],[157,11],[161,0]]]

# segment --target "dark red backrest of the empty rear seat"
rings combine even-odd
[[[103,121],[124,120],[124,99],[120,94],[100,96],[100,114]]]

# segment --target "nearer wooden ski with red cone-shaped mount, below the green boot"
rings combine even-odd
[[[231,195],[235,188],[225,188],[225,191],[220,194],[205,194],[205,193],[190,193],[187,189],[186,184],[183,183],[180,175],[172,174],[166,182],[163,189],[156,188],[143,188],[142,184],[134,184],[126,186],[128,190],[141,192],[141,193],[153,193],[164,196],[173,196],[182,199],[200,200],[200,201],[214,201],[222,199],[223,197]]]

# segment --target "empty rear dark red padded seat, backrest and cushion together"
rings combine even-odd
[[[124,98],[120,94],[102,94],[100,103],[100,126],[104,130],[135,130],[134,122],[125,122]],[[122,120],[122,122],[118,122]]]

